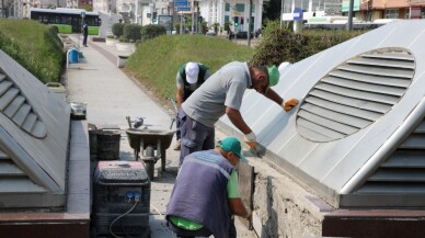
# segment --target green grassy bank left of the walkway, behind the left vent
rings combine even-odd
[[[65,53],[57,27],[32,20],[0,19],[0,49],[42,82],[60,81]]]

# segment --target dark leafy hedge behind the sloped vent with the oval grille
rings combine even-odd
[[[364,34],[367,31],[302,31],[294,33],[271,23],[264,32],[251,65],[280,65],[283,61],[296,63],[319,52]]]

